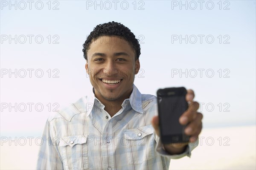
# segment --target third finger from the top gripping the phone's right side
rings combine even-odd
[[[202,118],[203,115],[201,113],[197,113],[196,118],[190,122],[186,128],[185,133],[188,136],[198,136],[202,129]]]

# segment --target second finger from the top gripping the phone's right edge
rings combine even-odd
[[[197,110],[199,108],[198,102],[191,102],[188,109],[180,116],[179,122],[181,125],[186,125],[195,119]]]

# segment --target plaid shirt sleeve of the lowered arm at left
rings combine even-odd
[[[54,129],[47,121],[43,132],[43,144],[38,153],[37,170],[63,170],[63,163],[58,151],[58,138],[55,137]]]

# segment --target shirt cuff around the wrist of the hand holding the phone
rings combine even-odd
[[[157,153],[159,153],[161,156],[168,157],[170,159],[180,159],[184,156],[188,156],[190,158],[191,151],[198,146],[198,140],[197,140],[195,143],[189,143],[186,147],[186,150],[183,153],[171,155],[166,150],[163,149],[163,143],[161,142],[160,137],[156,135],[156,139],[158,141],[157,147],[156,147]]]

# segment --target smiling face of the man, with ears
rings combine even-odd
[[[140,62],[128,42],[102,36],[91,42],[85,68],[99,100],[123,102],[131,94]]]

